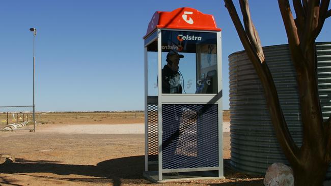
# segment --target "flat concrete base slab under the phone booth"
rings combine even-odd
[[[217,171],[163,173],[163,180],[158,180],[158,171],[144,172],[143,176],[155,183],[164,183],[169,181],[189,181],[197,179],[225,179],[224,176],[218,177]]]

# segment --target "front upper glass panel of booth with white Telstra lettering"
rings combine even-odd
[[[163,94],[217,94],[216,33],[162,30],[161,39]]]

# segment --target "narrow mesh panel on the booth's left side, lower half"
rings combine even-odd
[[[158,113],[157,105],[148,105],[148,161],[158,160]]]

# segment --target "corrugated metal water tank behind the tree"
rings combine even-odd
[[[316,43],[318,90],[324,120],[331,113],[331,42]],[[288,45],[263,47],[291,135],[301,146],[295,70]],[[244,51],[229,56],[231,166],[264,174],[272,163],[288,164],[275,138],[260,80]],[[331,177],[331,169],[327,177]]]

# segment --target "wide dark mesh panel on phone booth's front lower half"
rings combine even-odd
[[[217,104],[162,105],[163,169],[218,166]]]

